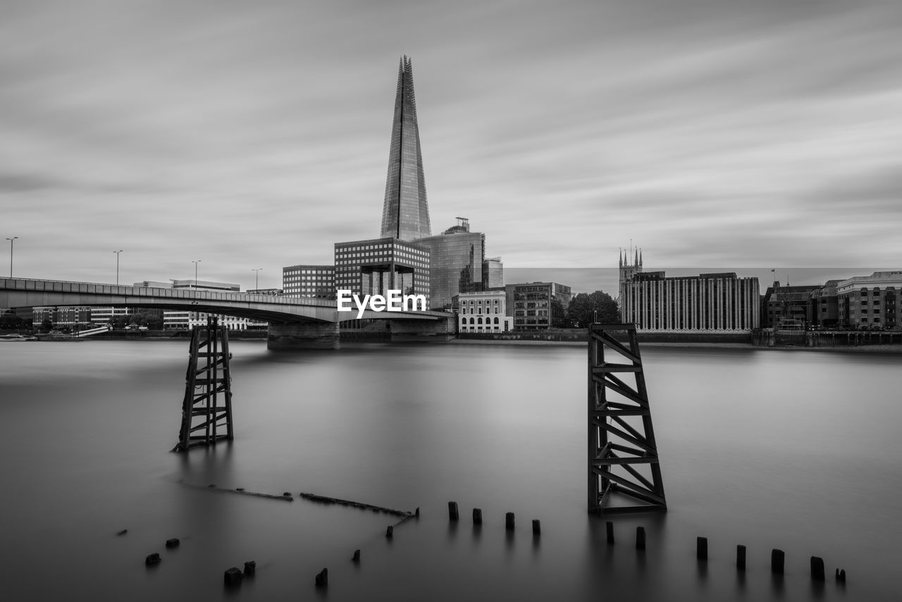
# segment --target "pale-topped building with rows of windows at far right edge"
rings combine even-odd
[[[902,271],[854,276],[836,284],[839,321],[858,329],[902,328]]]

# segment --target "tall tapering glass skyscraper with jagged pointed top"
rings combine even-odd
[[[380,236],[394,236],[401,240],[432,236],[426,181],[423,179],[423,157],[419,150],[413,69],[407,56],[401,57],[398,67]]]

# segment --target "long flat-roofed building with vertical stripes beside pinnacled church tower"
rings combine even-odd
[[[731,331],[759,328],[758,278],[735,273],[701,273],[667,278],[643,272],[641,255],[621,254],[620,305],[623,322],[651,332]]]

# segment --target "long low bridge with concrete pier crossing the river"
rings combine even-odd
[[[338,311],[336,301],[308,297],[198,291],[97,282],[0,278],[0,307],[142,307],[198,311],[269,322],[267,345],[279,348],[338,348],[339,323],[357,319],[357,311]],[[364,310],[363,320],[390,320],[393,335],[438,335],[456,328],[444,311]]]

